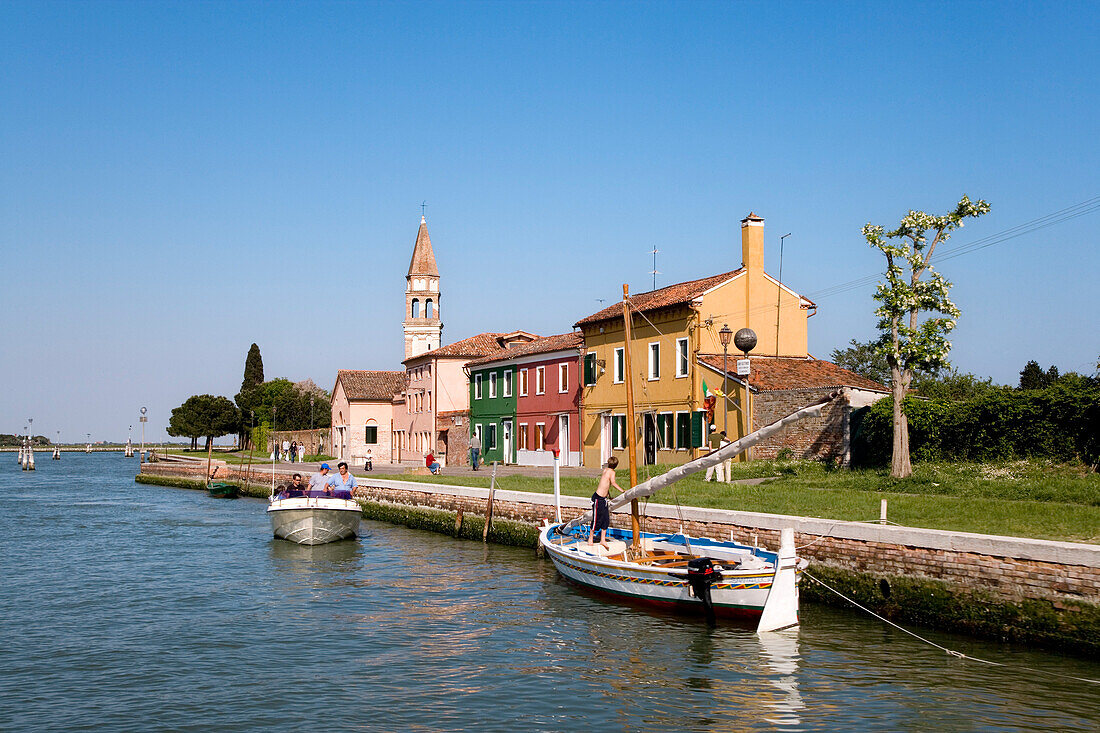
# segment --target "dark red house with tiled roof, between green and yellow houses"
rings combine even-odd
[[[466,363],[468,370],[499,366],[516,375],[516,462],[552,466],[553,450],[562,466],[581,464],[580,333],[546,336],[510,346]]]

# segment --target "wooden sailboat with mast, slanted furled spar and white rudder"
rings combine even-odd
[[[799,623],[799,576],[806,560],[795,555],[793,528],[782,529],[778,551],[684,534],[641,532],[638,500],[680,479],[737,456],[804,417],[820,416],[833,398],[799,409],[703,458],[638,483],[637,430],[630,366],[630,304],[623,286],[627,450],[630,489],[614,501],[630,503],[630,530],[608,529],[608,546],[588,544],[592,512],[565,523],[547,524],[539,541],[558,571],[581,586],[634,602],[757,621],[757,631],[778,631]]]

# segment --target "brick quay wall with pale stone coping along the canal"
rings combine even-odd
[[[145,463],[143,473],[201,480],[205,461]],[[220,461],[219,479],[243,478],[244,467]],[[285,484],[290,469],[276,471]],[[253,485],[271,485],[271,470],[253,466]],[[488,490],[360,478],[365,502],[484,515]],[[588,501],[562,496],[562,516],[588,508]],[[494,517],[538,525],[553,519],[550,494],[496,491]],[[683,522],[681,524],[681,516]],[[458,523],[461,524],[461,523]],[[613,526],[628,529],[629,514],[617,510]],[[778,548],[784,527],[795,532],[800,557],[811,561],[803,597],[847,605],[823,584],[877,613],[899,621],[1034,643],[1100,657],[1100,545],[999,537],[974,533],[849,523],[756,512],[679,510],[650,502],[646,532],[679,532]]]

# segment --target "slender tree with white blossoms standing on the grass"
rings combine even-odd
[[[928,262],[936,245],[963,226],[963,220],[989,212],[983,200],[971,203],[966,196],[950,214],[942,217],[910,210],[893,231],[879,225],[864,227],[867,243],[887,256],[887,282],[879,283],[875,299],[879,307],[881,340],[879,349],[890,364],[893,392],[893,456],[890,475],[904,479],[913,473],[909,457],[909,420],[905,393],[913,372],[935,372],[949,366],[947,335],[955,328],[959,309],[948,297],[952,284],[935,272]],[[928,241],[930,234],[932,241]],[[922,277],[927,274],[927,277]],[[925,317],[921,314],[939,314]]]

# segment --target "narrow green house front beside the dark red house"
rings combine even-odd
[[[516,462],[516,369],[470,368],[470,434],[481,438],[482,462]]]

